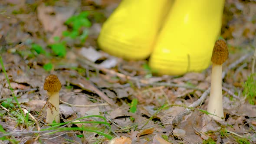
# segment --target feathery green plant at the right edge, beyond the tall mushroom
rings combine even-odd
[[[255,73],[248,76],[246,82],[243,84],[243,95],[246,95],[246,99],[249,104],[256,104],[256,81],[254,80]]]

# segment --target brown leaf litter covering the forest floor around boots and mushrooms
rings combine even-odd
[[[206,144],[213,140],[216,143],[256,143],[256,106],[249,104],[247,94],[243,93],[244,83],[254,69],[256,3],[240,0],[226,0],[225,3],[221,33],[230,45],[230,58],[223,69],[247,56],[228,69],[223,79],[225,121],[205,119],[206,98],[176,125],[174,118],[210,88],[211,67],[201,73],[191,72],[180,77],[158,76],[152,75],[145,60],[127,61],[99,50],[96,39],[100,26],[118,3],[118,0],[0,2],[0,10],[6,10],[4,15],[0,14],[0,52],[10,80],[9,85],[0,66],[0,142]],[[66,56],[56,56],[49,44],[56,43],[56,36],[64,39],[62,31],[70,29],[65,25],[66,20],[84,10],[91,12],[89,20],[92,22],[85,43],[69,39]],[[49,55],[33,51],[33,43],[39,44],[42,52]],[[53,65],[49,71],[43,68],[47,63]],[[13,106],[18,108],[13,95],[21,108],[32,115],[28,120],[30,123],[36,120],[40,129],[51,128],[45,124],[45,109],[39,115],[46,103],[43,82],[49,73],[58,75],[62,83],[61,119],[70,121],[62,128],[85,127],[115,138],[109,140],[101,134],[81,129],[38,131],[36,124],[16,119],[8,110]],[[135,113],[130,111],[133,99],[138,99]],[[83,118],[93,115],[103,116],[111,127],[89,123],[102,121],[101,118]]]

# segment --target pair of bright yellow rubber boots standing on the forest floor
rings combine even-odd
[[[200,72],[210,59],[225,0],[122,0],[98,45],[125,59],[145,59],[158,74]]]

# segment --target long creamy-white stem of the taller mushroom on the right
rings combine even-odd
[[[207,111],[213,115],[209,115],[210,118],[215,120],[222,120],[223,104],[222,104],[222,65],[213,63],[212,75],[211,75],[211,89],[210,99],[208,102]],[[215,116],[216,115],[216,116]]]

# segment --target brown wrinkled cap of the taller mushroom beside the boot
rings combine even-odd
[[[219,39],[215,42],[211,61],[222,65],[228,58],[229,52],[225,40]]]

